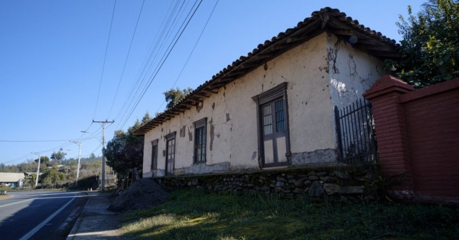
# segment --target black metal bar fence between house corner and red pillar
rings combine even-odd
[[[340,161],[345,164],[373,163],[377,147],[371,104],[358,100],[338,110],[334,107]]]

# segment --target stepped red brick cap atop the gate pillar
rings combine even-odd
[[[388,93],[388,92],[398,92],[398,93],[405,93],[405,92],[413,92],[415,88],[410,84],[396,78],[392,75],[384,75],[380,77],[376,82],[371,86],[371,88],[362,95],[367,100],[371,100],[372,98]]]

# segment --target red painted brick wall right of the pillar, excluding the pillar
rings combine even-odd
[[[459,197],[459,88],[443,90],[401,104],[416,193]]]

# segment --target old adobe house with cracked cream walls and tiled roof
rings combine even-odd
[[[345,13],[313,12],[135,130],[143,176],[336,163],[334,106],[361,99],[397,56]]]

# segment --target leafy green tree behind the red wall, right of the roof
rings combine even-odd
[[[386,61],[392,74],[422,88],[459,76],[459,0],[429,0],[397,22],[401,60]]]

